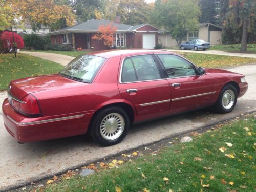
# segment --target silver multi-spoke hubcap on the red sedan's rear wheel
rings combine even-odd
[[[115,140],[123,133],[125,122],[118,113],[106,115],[100,123],[100,134],[106,140]]]

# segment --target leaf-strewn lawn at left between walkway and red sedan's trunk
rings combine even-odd
[[[0,90],[6,90],[13,79],[57,73],[63,68],[58,63],[27,54],[0,54]]]

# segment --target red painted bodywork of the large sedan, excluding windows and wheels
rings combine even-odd
[[[226,83],[233,83],[238,87],[238,97],[248,89],[248,84],[241,82],[244,75],[220,69],[206,69],[204,75],[121,83],[123,59],[146,54],[176,55],[162,50],[93,52],[89,55],[104,57],[106,61],[92,83],[58,74],[11,81],[8,93],[17,100],[33,94],[41,116],[28,117],[20,114],[5,99],[2,108],[7,131],[18,142],[81,135],[87,133],[90,121],[98,110],[113,104],[130,109],[133,114],[131,119],[135,123],[213,105]],[[180,83],[181,86],[173,87],[173,83]],[[129,93],[129,89],[138,91]],[[199,96],[190,98],[191,95]],[[147,105],[154,102],[157,104]]]

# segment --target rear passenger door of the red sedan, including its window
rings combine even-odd
[[[169,113],[169,82],[159,73],[153,55],[121,58],[118,82],[120,94],[137,110],[136,121],[152,119]]]

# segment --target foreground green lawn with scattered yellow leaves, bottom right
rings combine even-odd
[[[255,125],[253,116],[218,125],[202,135],[194,133],[192,142],[172,144],[134,161],[126,157],[119,168],[97,163],[95,174],[59,176],[45,191],[254,191]]]

